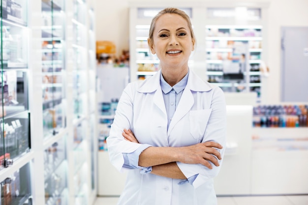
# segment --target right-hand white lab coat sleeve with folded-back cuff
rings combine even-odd
[[[213,169],[209,169],[200,164],[184,164],[177,162],[186,178],[198,174],[196,179],[192,182],[194,188],[197,188],[207,180],[217,176],[222,165],[226,146],[226,104],[224,94],[219,87],[213,88],[211,109],[212,113],[206,126],[202,142],[214,141],[223,146],[223,148],[219,150],[222,157],[222,159],[219,160],[220,166],[216,167],[210,162]]]

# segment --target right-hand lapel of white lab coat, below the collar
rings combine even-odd
[[[168,137],[176,123],[184,117],[193,106],[194,99],[191,93],[191,90],[186,86],[186,88],[183,90],[182,97],[180,99],[179,105],[177,107],[177,110],[174,113],[174,116],[172,117],[172,120],[170,122],[169,128],[168,128]]]

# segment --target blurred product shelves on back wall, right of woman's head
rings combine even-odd
[[[262,86],[260,63],[262,62],[262,26],[240,25],[211,25],[206,26],[206,52],[207,52],[207,75],[211,83],[219,83],[224,91],[255,91],[260,98]],[[241,51],[246,62],[244,79],[237,83],[247,87],[245,89],[230,89],[228,79],[225,79],[226,61],[235,62],[238,58],[239,47],[246,47]],[[246,58],[248,56],[248,58]],[[248,67],[248,69],[246,69]],[[217,72],[217,73],[216,73]],[[222,75],[221,75],[222,74]],[[226,85],[224,85],[226,84]],[[234,84],[231,84],[234,86]],[[238,86],[238,85],[237,85]]]

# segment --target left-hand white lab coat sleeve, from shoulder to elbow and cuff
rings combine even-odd
[[[126,141],[122,136],[124,129],[133,131],[133,98],[136,88],[136,83],[130,83],[123,90],[109,137],[106,139],[110,162],[120,172],[130,170],[123,167],[123,153],[131,153],[141,146],[141,144]]]

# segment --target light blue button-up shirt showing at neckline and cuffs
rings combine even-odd
[[[185,89],[187,85],[187,80],[188,80],[188,72],[179,83],[171,87],[165,81],[162,74],[160,74],[160,87],[162,90],[167,118],[168,118],[167,129],[169,128],[169,124],[178,107],[178,104],[182,97],[183,90]],[[141,174],[150,173],[152,171],[152,167],[140,167],[138,165],[139,155],[141,154],[143,150],[145,150],[149,146],[151,145],[144,144],[131,153],[123,153],[123,157],[124,157],[123,167],[131,168],[131,169],[141,168],[141,172],[140,172]],[[179,184],[183,184],[186,182],[192,183],[196,177],[197,175],[191,176],[187,180],[181,181]]]

